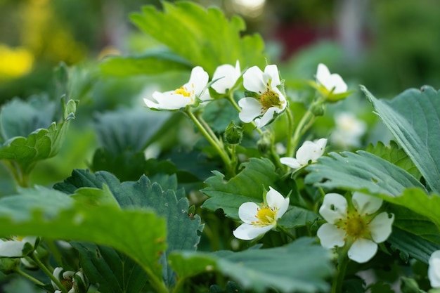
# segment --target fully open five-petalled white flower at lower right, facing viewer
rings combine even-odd
[[[392,232],[394,215],[376,212],[382,206],[377,197],[354,193],[348,204],[338,193],[324,197],[319,213],[325,221],[318,229],[318,237],[325,248],[347,245],[349,259],[358,263],[369,261],[377,252],[377,243],[387,240]]]

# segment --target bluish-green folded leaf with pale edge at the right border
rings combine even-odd
[[[440,95],[430,86],[408,89],[393,100],[362,91],[396,141],[418,167],[429,188],[440,193]]]

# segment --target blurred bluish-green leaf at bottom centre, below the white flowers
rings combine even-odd
[[[303,237],[284,247],[243,252],[175,252],[170,261],[183,278],[218,271],[255,292],[268,288],[280,292],[326,291],[330,286],[325,280],[333,273],[332,256],[314,241]]]

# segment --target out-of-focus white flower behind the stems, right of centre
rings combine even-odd
[[[365,122],[356,119],[350,112],[340,112],[335,115],[335,124],[335,130],[330,137],[333,143],[344,148],[361,144],[361,136],[367,130]]]

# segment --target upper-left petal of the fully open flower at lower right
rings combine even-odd
[[[324,196],[319,214],[325,221],[333,224],[347,217],[347,205],[347,200],[339,193],[328,193]]]

